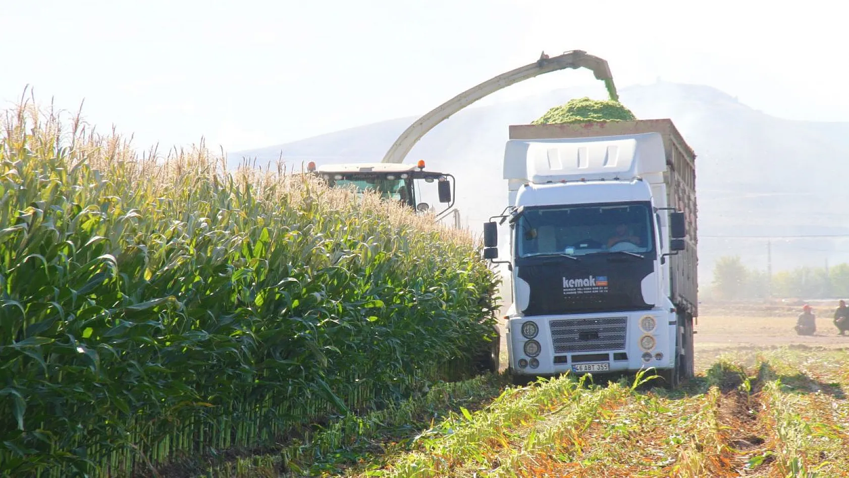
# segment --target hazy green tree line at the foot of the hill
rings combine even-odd
[[[734,300],[767,297],[849,297],[849,264],[797,267],[769,277],[766,270],[746,267],[739,256],[725,256],[713,268],[712,294]]]

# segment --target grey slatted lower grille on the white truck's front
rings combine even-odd
[[[593,352],[625,348],[627,317],[551,320],[554,353]]]

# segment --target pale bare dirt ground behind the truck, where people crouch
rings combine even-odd
[[[717,353],[740,348],[779,346],[849,347],[849,332],[838,334],[832,323],[832,304],[814,306],[817,331],[813,336],[798,336],[793,326],[801,314],[798,306],[703,304],[700,307],[694,338],[696,368],[712,363]],[[507,367],[507,342],[501,334],[501,367]]]

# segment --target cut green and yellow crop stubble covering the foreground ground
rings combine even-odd
[[[843,476],[847,359],[846,350],[777,347],[728,353],[674,391],[650,374],[507,388],[346,475]]]

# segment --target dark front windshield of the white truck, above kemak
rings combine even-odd
[[[654,250],[649,203],[526,208],[516,225],[519,257]]]

